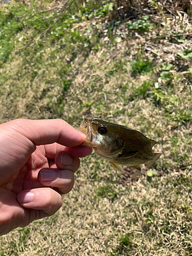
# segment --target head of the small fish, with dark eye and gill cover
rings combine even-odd
[[[118,156],[122,153],[124,140],[114,128],[114,124],[101,119],[84,118],[79,131],[86,135],[86,139],[81,145],[93,147],[102,157]]]

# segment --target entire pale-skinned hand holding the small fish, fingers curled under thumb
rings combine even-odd
[[[0,235],[55,214],[92,151],[85,137],[60,119],[0,124]]]

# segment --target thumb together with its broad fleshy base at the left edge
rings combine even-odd
[[[57,142],[73,147],[86,136],[61,119],[15,119],[0,124],[0,185],[10,182],[28,161],[37,145]]]

